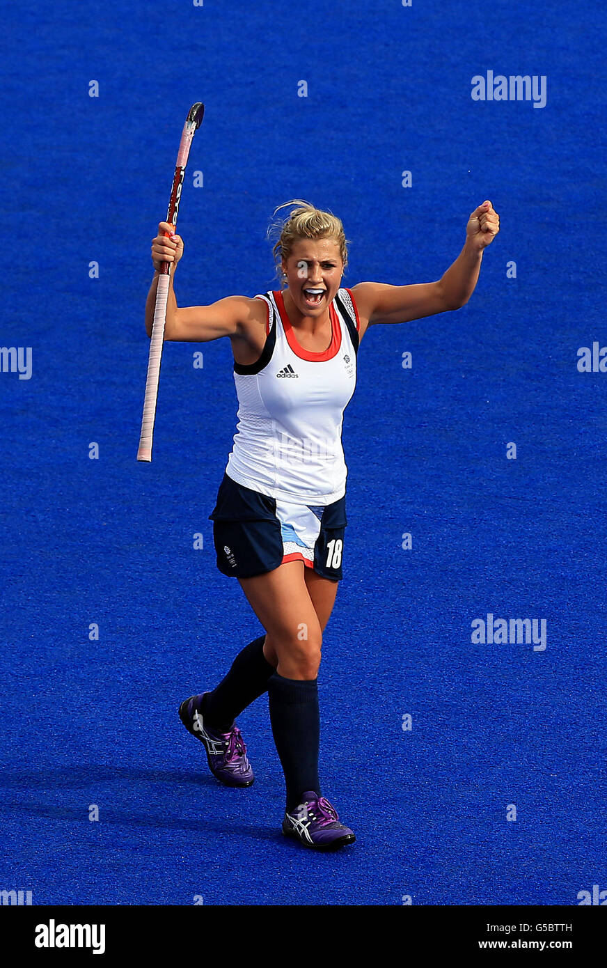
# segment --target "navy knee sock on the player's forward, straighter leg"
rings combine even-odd
[[[301,795],[319,785],[319,681],[285,679],[277,672],[268,681],[272,734],[287,784],[287,810]]]

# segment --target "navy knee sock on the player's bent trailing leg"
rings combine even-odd
[[[204,722],[211,729],[227,733],[234,719],[267,689],[274,666],[263,654],[265,635],[240,650],[228,675],[201,700]]]

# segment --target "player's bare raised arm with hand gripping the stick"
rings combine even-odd
[[[173,343],[208,343],[221,336],[238,336],[243,333],[251,319],[257,318],[258,300],[247,296],[226,296],[209,306],[184,306],[179,308],[173,290],[173,275],[177,262],[183,255],[183,240],[179,235],[167,238],[164,231],[173,231],[167,222],[161,222],[158,235],[152,241],[152,262],[155,272],[145,304],[145,331],[152,335],[156,289],[162,261],[171,263],[168,277],[167,322],[165,341]]]

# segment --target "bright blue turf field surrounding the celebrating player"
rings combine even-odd
[[[607,889],[607,374],[576,366],[607,345],[604,11],[36,0],[2,18],[0,343],[31,347],[32,372],[0,373],[0,888],[78,905]],[[545,76],[546,106],[472,101],[489,70]],[[207,520],[235,428],[228,340],[167,344],[154,461],[136,461],[150,241],[198,100],[182,305],[276,287],[264,233],[292,197],[343,219],[348,286],[438,279],[470,211],[501,215],[464,309],[361,344],[319,673],[322,792],[357,835],[335,856],[280,832],[265,698],[239,718],[250,790],[211,777],[176,714],[261,630]],[[546,649],[472,644],[488,613],[545,619]]]

